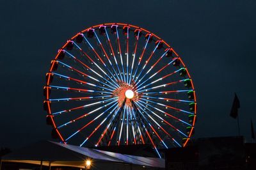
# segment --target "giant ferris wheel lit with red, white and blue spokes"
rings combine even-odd
[[[183,147],[194,132],[196,95],[188,68],[142,27],[84,29],[58,50],[46,73],[52,137],[79,146]]]

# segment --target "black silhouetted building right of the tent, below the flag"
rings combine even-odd
[[[256,169],[256,144],[241,136],[201,138],[186,148],[165,151],[168,170]]]

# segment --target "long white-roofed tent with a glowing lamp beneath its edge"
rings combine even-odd
[[[1,162],[37,164],[51,169],[52,166],[84,168],[86,160],[92,162],[90,169],[159,169],[165,166],[161,158],[125,155],[52,141],[40,141],[13,151],[4,155]]]

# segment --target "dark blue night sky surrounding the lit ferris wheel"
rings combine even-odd
[[[184,60],[195,84],[194,138],[237,135],[229,116],[240,100],[241,135],[256,128],[256,2],[0,1],[0,146],[51,139],[42,102],[45,73],[58,49],[87,27],[124,22],[163,38]]]

